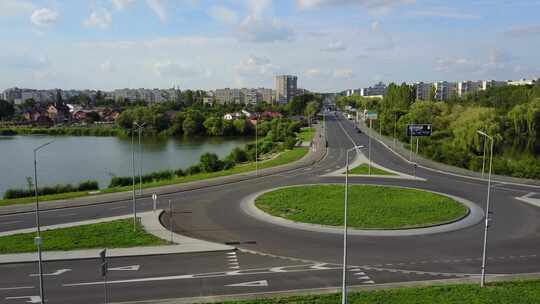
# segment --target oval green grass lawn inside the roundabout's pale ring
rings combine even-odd
[[[446,196],[383,186],[349,186],[349,225],[362,229],[402,229],[457,220],[468,209]],[[256,206],[295,222],[343,225],[344,187],[316,185],[268,192]]]

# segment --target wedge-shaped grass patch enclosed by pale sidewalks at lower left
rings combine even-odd
[[[34,252],[35,233],[0,237],[0,254]],[[133,220],[60,228],[41,232],[43,250],[67,251],[91,248],[126,248],[165,245],[167,241],[148,234],[140,224],[133,231]]]

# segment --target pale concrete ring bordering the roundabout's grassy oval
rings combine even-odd
[[[325,184],[306,184],[306,185],[294,185],[294,186],[285,186],[285,187],[278,187],[273,189],[266,189],[264,191],[259,191],[257,193],[253,193],[249,196],[246,196],[244,199],[242,199],[240,203],[240,208],[242,211],[260,221],[271,223],[274,225],[284,226],[287,228],[292,229],[299,229],[299,230],[305,230],[305,231],[311,231],[311,232],[317,232],[317,233],[333,233],[333,234],[343,234],[343,228],[340,227],[333,227],[333,226],[325,226],[325,225],[317,225],[317,224],[308,224],[308,223],[300,223],[300,222],[294,222],[288,219],[284,219],[281,217],[270,215],[259,208],[255,206],[255,200],[257,197],[272,192],[279,189],[286,189],[286,188],[293,188],[293,187],[304,187],[304,186],[320,186]],[[326,184],[326,185],[337,185],[337,184]],[[341,185],[341,184],[339,184]],[[362,185],[362,184],[355,184],[355,185]],[[433,225],[429,227],[424,228],[410,228],[410,229],[396,229],[396,230],[361,230],[361,229],[354,229],[349,228],[349,235],[354,236],[375,236],[375,237],[401,237],[401,236],[417,236],[417,235],[428,235],[428,234],[436,234],[436,233],[446,233],[446,232],[452,232],[461,230],[464,228],[468,228],[471,226],[474,226],[482,221],[484,218],[484,211],[478,207],[473,202],[466,200],[464,198],[460,198],[457,196],[441,193],[441,192],[435,192],[431,190],[425,190],[421,188],[412,188],[412,187],[402,187],[402,186],[389,186],[389,185],[376,185],[376,184],[369,184],[370,186],[382,186],[382,187],[394,187],[394,188],[403,188],[403,189],[414,189],[414,190],[421,190],[426,192],[431,192],[439,195],[443,195],[449,198],[452,198],[463,205],[465,205],[469,209],[469,213],[462,217],[461,219]]]

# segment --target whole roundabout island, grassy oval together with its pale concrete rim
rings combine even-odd
[[[259,220],[313,232],[342,233],[344,186],[297,185],[250,195],[242,210]],[[463,198],[414,188],[349,186],[350,234],[409,236],[454,231],[480,222],[483,211]]]

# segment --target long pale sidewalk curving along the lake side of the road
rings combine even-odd
[[[194,181],[189,183],[168,185],[156,188],[147,188],[143,189],[143,195],[141,198],[150,198],[153,193],[158,195],[166,195],[178,192],[193,191],[198,189],[204,189],[214,186],[221,186],[226,184],[232,184],[237,182],[242,182],[246,180],[252,180],[254,178],[265,177],[269,175],[274,175],[277,173],[283,173],[291,170],[296,170],[298,168],[311,166],[319,162],[324,155],[326,154],[326,146],[324,136],[319,136],[321,131],[321,126],[316,126],[316,133],[313,140],[313,149],[310,149],[309,152],[300,160],[285,164],[281,166],[276,166],[272,168],[266,168],[259,170],[258,174],[255,171],[239,173],[235,175],[216,177],[211,179],[205,179],[200,181]],[[46,201],[41,202],[40,207],[42,210],[53,210],[69,207],[79,207],[79,206],[88,206],[88,205],[98,205],[105,203],[113,203],[119,201],[125,201],[131,199],[131,192],[118,192],[118,193],[108,193],[108,194],[98,194],[93,196],[85,196],[73,199],[57,200],[57,201]],[[32,212],[34,210],[34,204],[19,204],[11,206],[2,206],[0,207],[0,215],[9,215],[17,213]]]

